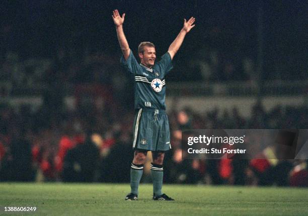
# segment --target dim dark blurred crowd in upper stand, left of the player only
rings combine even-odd
[[[23,59],[16,52],[8,52],[0,62],[0,83],[15,89],[61,87],[68,84],[117,84],[117,77],[125,80],[118,56],[101,52],[59,49],[53,58]],[[5,85],[4,85],[5,86]],[[10,90],[10,89],[9,89]],[[4,92],[3,92],[4,93]],[[7,92],[10,93],[10,92]]]

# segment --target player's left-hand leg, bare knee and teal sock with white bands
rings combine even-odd
[[[134,152],[134,159],[130,168],[130,194],[134,194],[134,196],[138,195],[138,186],[143,173],[143,164],[146,158],[146,153],[147,151],[138,149]],[[127,197],[125,199],[130,199]]]

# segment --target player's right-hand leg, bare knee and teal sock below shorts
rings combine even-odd
[[[162,195],[163,177],[164,177],[164,152],[152,152],[151,174],[153,180],[153,193],[155,196]]]

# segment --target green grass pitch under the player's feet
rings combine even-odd
[[[176,201],[152,201],[141,184],[138,201],[124,201],[128,184],[0,183],[2,215],[308,215],[307,188],[164,185]],[[36,206],[5,212],[4,206]]]

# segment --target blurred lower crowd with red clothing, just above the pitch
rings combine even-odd
[[[88,102],[75,111],[31,111],[0,107],[0,181],[128,182],[132,150],[132,109]],[[275,107],[260,102],[251,118],[237,109],[169,113],[172,150],[165,157],[168,183],[308,186],[305,160],[185,160],[181,132],[186,129],[304,128],[307,107]],[[148,155],[142,181],[150,179]]]

